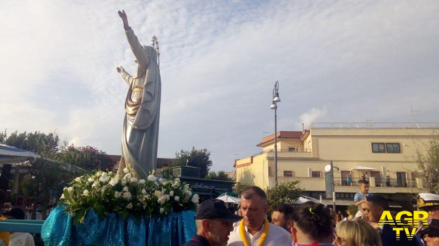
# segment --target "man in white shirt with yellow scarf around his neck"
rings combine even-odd
[[[283,228],[269,224],[267,195],[257,186],[250,186],[241,193],[240,211],[244,217],[230,232],[228,246],[291,246],[290,234]],[[244,241],[246,244],[244,244]]]

